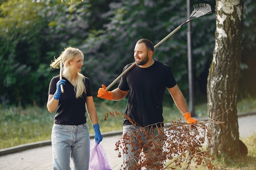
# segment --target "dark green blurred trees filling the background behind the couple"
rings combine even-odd
[[[206,102],[215,1],[193,0],[191,6],[198,3],[209,3],[213,11],[191,22],[195,99]],[[239,97],[256,95],[255,12],[255,1],[244,2]],[[108,86],[134,62],[137,40],[157,44],[186,19],[186,0],[0,0],[0,104],[45,106],[49,81],[59,72],[49,64],[67,46],[83,51],[82,73],[96,95],[101,84]],[[187,97],[186,26],[157,47],[154,56],[172,67]]]

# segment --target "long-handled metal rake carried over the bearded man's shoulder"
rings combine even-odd
[[[189,19],[187,19],[185,22],[180,24],[175,30],[173,30],[171,33],[169,33],[164,39],[162,39],[160,42],[158,42],[154,49],[157,48],[159,45],[161,45],[163,42],[165,42],[168,38],[170,38],[174,33],[176,33],[179,29],[181,29],[182,26],[189,23],[191,20],[195,18],[199,18],[200,16],[207,15],[211,13],[211,5],[210,4],[195,4],[193,5],[194,10],[192,11],[191,15],[189,16]],[[106,91],[108,91],[125,73],[127,73],[133,66],[135,66],[135,62],[130,65],[123,73],[121,73],[107,88]]]

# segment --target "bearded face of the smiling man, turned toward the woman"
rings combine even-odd
[[[148,62],[148,52],[144,43],[136,44],[134,48],[134,60],[137,65],[144,65]]]

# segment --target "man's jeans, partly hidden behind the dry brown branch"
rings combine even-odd
[[[145,135],[144,130],[146,130],[148,135]],[[148,147],[148,146],[145,146],[145,144],[147,144],[150,139],[153,139],[153,137],[156,137],[153,140],[157,141],[158,146],[160,146],[162,150],[163,136],[159,134],[159,130],[162,130],[163,132],[164,128],[152,128],[152,129],[145,128],[144,130],[141,131],[139,126],[134,126],[134,125],[123,126],[123,137],[126,132],[128,133],[128,138],[126,137],[123,138],[124,142],[126,143],[126,146],[125,146],[126,153],[124,153],[123,155],[124,170],[137,169],[136,163],[138,163],[139,161],[138,158],[139,158],[139,155],[141,154],[140,151],[144,152],[145,155],[150,156],[152,159],[154,159],[154,157],[157,157],[157,155],[160,154],[160,153],[154,154],[150,150],[155,150],[155,147],[151,146],[150,148],[150,145],[148,145],[149,146]],[[151,138],[149,139],[148,137],[151,137]],[[143,146],[143,150],[140,149],[141,146]],[[153,164],[156,164],[156,165],[157,163],[160,163],[160,161],[153,162]],[[159,167],[155,166],[155,168],[153,169],[158,170]]]

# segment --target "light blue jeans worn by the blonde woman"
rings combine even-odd
[[[52,127],[52,158],[54,170],[88,170],[90,135],[87,124],[58,125]]]

